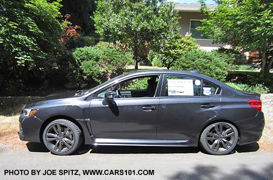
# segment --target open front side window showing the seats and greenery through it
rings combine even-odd
[[[102,99],[106,92],[114,93],[114,98],[143,98],[154,97],[157,89],[159,75],[141,76],[122,81],[98,93],[97,98]]]

